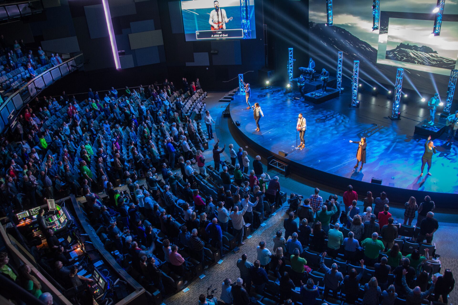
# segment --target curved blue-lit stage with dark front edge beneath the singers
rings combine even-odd
[[[251,89],[251,105],[259,102],[264,113],[260,132],[255,131],[253,111],[245,109],[244,95],[236,94],[229,105],[232,121],[241,123],[230,124],[231,132],[237,133],[263,158],[274,155],[289,164],[291,172],[343,191],[352,184],[360,195],[370,190],[378,197],[378,193],[385,191],[392,201],[406,202],[415,196],[418,203],[430,195],[436,205],[443,207],[454,207],[458,202],[458,141],[445,142],[447,132],[439,139],[433,138],[437,153],[432,159],[432,176],[426,174],[426,166],[420,177],[426,136],[414,134],[414,128],[429,118],[425,105],[404,101],[400,107],[401,120],[392,121],[389,118],[392,100],[386,96],[358,93],[360,107],[350,108],[349,91],[314,104],[304,101],[297,91],[285,94],[280,89]],[[307,120],[303,150],[294,149],[299,112]],[[436,114],[436,122],[439,115]],[[355,171],[358,145],[349,140],[357,141],[361,136],[367,139],[367,163],[362,171],[359,167]],[[280,150],[288,155],[281,157]],[[371,184],[372,177],[382,179],[382,185]]]

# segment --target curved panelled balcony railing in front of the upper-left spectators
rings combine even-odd
[[[78,54],[49,70],[37,75],[33,80],[14,92],[8,99],[0,105],[0,134],[14,129],[17,124],[16,116],[22,107],[30,102],[41,90],[52,85],[56,80],[70,74],[82,66],[84,62],[83,54]]]

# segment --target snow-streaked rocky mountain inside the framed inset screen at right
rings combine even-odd
[[[386,58],[450,70],[455,69],[456,64],[456,60],[443,57],[428,46],[419,47],[409,43],[400,43],[396,48],[387,51]]]

